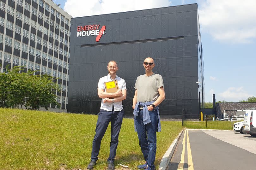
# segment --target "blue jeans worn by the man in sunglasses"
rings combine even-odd
[[[135,125],[139,138],[139,145],[143,153],[147,165],[151,169],[155,168],[155,153],[156,153],[156,131],[158,125],[158,114],[156,109],[149,111],[151,123],[143,125],[142,110],[135,116]]]

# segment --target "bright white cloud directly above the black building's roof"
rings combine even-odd
[[[168,0],[67,0],[64,10],[72,17],[109,14],[169,6]]]

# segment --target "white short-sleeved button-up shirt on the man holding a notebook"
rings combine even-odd
[[[126,90],[126,83],[124,79],[121,79],[120,77],[116,76],[116,79],[114,80],[117,80],[117,84],[120,90],[123,90],[123,89]],[[108,81],[112,81],[111,76],[109,74],[107,76],[101,77],[98,83],[98,88],[106,91],[106,87],[104,83]],[[103,103],[103,99],[101,100],[101,109],[103,110],[112,111],[113,105],[114,105],[114,111],[123,110],[122,101],[114,102],[114,103],[112,102]]]

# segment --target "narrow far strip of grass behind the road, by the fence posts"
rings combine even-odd
[[[237,121],[233,121],[233,124]],[[233,124],[231,121],[184,121],[184,128],[192,129],[222,129],[222,130],[233,130]]]

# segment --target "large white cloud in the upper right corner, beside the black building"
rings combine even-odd
[[[256,1],[200,1],[199,21],[202,32],[218,41],[250,43],[256,38]]]

